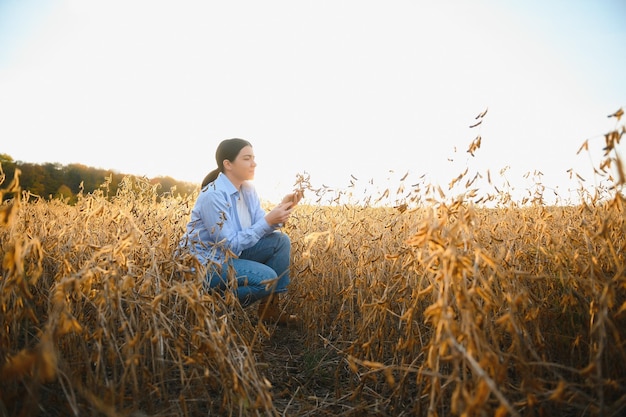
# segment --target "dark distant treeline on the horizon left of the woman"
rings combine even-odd
[[[23,191],[45,199],[63,198],[69,203],[75,202],[80,192],[89,194],[98,189],[102,189],[109,196],[114,196],[120,182],[125,177],[132,177],[129,174],[81,164],[61,165],[50,162],[33,164],[15,161],[11,156],[0,153],[0,182],[4,176],[4,186],[13,180],[16,169],[21,172],[19,185]],[[159,195],[173,191],[174,195],[185,196],[198,187],[198,184],[177,181],[171,177],[151,178],[148,181],[151,184],[160,184]]]

